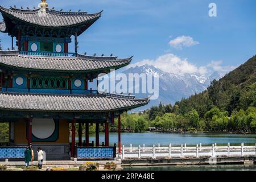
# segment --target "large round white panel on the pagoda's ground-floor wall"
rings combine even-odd
[[[32,119],[32,134],[39,139],[47,139],[55,131],[53,119]]]

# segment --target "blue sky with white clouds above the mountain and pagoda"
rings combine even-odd
[[[37,2],[38,1],[38,2]],[[39,0],[6,1],[1,6],[37,6]],[[255,0],[83,0],[47,1],[49,7],[101,18],[79,36],[79,52],[134,55],[133,64],[148,63],[170,72],[228,72],[256,53]],[[217,17],[208,15],[209,3]],[[1,17],[2,18],[2,17]],[[11,39],[0,34],[2,47]],[[73,51],[73,46],[70,47]]]

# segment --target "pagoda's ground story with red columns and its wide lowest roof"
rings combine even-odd
[[[10,123],[10,142],[5,154],[1,153],[0,148],[0,158],[1,155],[6,155],[2,158],[17,159],[23,156],[25,146],[32,144],[34,151],[40,147],[46,152],[47,160],[114,159],[117,156],[116,146],[109,144],[110,125],[118,118],[117,143],[120,153],[120,114],[131,107],[147,103],[148,99],[136,100],[132,96],[116,94],[55,96],[2,92],[0,118],[1,122]],[[76,123],[79,123],[77,131]],[[96,125],[96,137],[95,142],[90,143],[89,127],[93,124]],[[85,126],[85,140],[82,140],[82,125]],[[101,142],[100,126],[105,128],[105,139]]]

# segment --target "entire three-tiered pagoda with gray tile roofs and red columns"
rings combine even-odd
[[[118,118],[120,155],[120,115],[147,105],[149,100],[88,88],[89,82],[98,85],[100,73],[125,67],[132,59],[77,53],[78,36],[102,12],[56,11],[48,8],[46,0],[34,9],[0,6],[0,12],[3,16],[0,31],[7,33],[12,43],[11,50],[0,51],[0,122],[8,122],[10,126],[10,141],[0,147],[0,159],[23,158],[28,145],[33,150],[41,147],[47,159],[115,158],[115,146],[109,144],[109,125],[115,118]],[[75,51],[69,52],[72,36],[75,36]],[[18,50],[13,48],[14,40]],[[85,125],[84,141],[82,125]],[[96,137],[90,143],[92,125],[96,125]],[[104,144],[100,143],[100,126],[105,127]]]

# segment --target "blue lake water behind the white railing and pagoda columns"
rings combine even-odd
[[[100,144],[104,142],[104,133],[100,133]],[[78,140],[78,138],[76,138]],[[83,138],[85,140],[85,138]],[[90,142],[94,140],[95,136],[90,135]],[[118,133],[109,133],[109,142],[111,145],[118,143]],[[142,146],[152,146],[153,144],[160,146],[168,146],[172,143],[172,146],[180,146],[180,144],[186,143],[187,146],[195,146],[196,144],[212,145],[217,143],[218,145],[226,145],[227,143],[240,145],[255,145],[256,135],[243,135],[243,134],[177,134],[177,133],[121,133],[121,143],[126,147],[130,146],[130,143],[134,147],[139,144]]]

